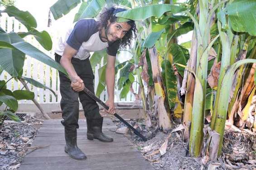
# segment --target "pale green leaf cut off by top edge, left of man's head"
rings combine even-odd
[[[63,15],[69,13],[69,11],[80,4],[81,0],[58,0],[50,10],[55,20],[61,18]]]

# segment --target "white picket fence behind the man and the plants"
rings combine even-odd
[[[39,22],[39,21],[38,21]],[[0,26],[2,29],[4,29],[6,32],[27,32],[27,29],[20,24],[17,20],[14,19],[14,17],[8,17],[7,14],[2,14],[0,17]],[[42,30],[39,30],[42,31]],[[54,33],[51,34],[49,32],[52,40],[53,40],[53,50],[52,51],[46,51],[43,49],[43,47],[38,43],[38,41],[35,40],[32,36],[25,37],[25,41],[29,42],[33,46],[37,47],[40,51],[43,51],[45,54],[53,58],[54,60],[54,46],[56,45],[56,42],[58,40],[58,37],[54,37]],[[95,91],[97,89],[98,84],[98,69],[102,66],[103,59],[101,63],[99,63],[95,68]],[[1,65],[1,63],[0,63]],[[44,90],[42,88],[37,88],[28,83],[29,89],[34,92],[35,99],[39,103],[59,103],[61,99],[61,95],[59,92],[59,78],[58,78],[58,71],[56,69],[53,69],[49,67],[46,64],[43,64],[42,62],[35,60],[29,56],[26,55],[26,59],[24,61],[24,70],[23,70],[23,76],[33,78],[34,80],[39,81],[40,83],[43,83],[47,87],[50,87],[55,93],[56,96],[53,95],[52,92],[49,90]],[[3,72],[0,75],[0,80],[9,80],[11,76],[7,72]],[[116,75],[116,82],[119,78],[119,73]],[[136,81],[136,80],[135,80]],[[138,91],[138,85],[137,83],[133,83],[133,88],[135,89],[135,92]],[[130,92],[127,94],[126,99],[120,99],[119,93],[120,91],[117,89],[117,86],[115,86],[115,102],[133,102],[135,100],[134,95]],[[20,90],[24,89],[23,85],[18,81],[15,81],[14,79],[11,79],[7,83],[7,88],[14,91],[14,90]],[[107,100],[107,93],[106,90],[101,93],[100,98],[102,101]],[[20,103],[32,103],[30,100],[21,100]]]

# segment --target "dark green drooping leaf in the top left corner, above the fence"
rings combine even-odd
[[[0,13],[2,12],[7,13],[9,17],[14,17],[15,19],[17,19],[28,30],[30,30],[31,27],[33,28],[37,27],[35,18],[28,11],[21,11],[15,6],[8,6],[3,11],[0,11]]]

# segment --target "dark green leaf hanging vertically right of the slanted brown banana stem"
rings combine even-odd
[[[174,70],[168,60],[162,62],[162,78],[166,88],[169,108],[174,108],[177,96],[177,79]]]

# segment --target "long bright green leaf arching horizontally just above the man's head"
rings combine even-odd
[[[185,11],[186,8],[183,6],[169,5],[169,4],[157,4],[157,5],[147,5],[144,7],[138,7],[130,10],[126,10],[117,13],[116,16],[120,18],[132,19],[135,21],[144,20],[152,16],[161,17],[165,12],[170,11],[172,14],[177,14]],[[121,22],[119,20],[119,22]]]

